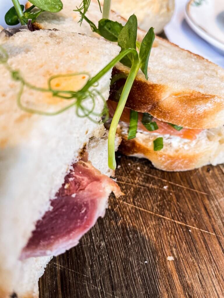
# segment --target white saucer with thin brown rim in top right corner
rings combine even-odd
[[[224,54],[224,0],[190,0],[185,17],[191,29]]]

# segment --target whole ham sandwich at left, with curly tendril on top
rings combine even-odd
[[[0,297],[39,297],[52,256],[105,214],[112,191],[121,194],[101,121],[111,70],[80,95],[120,49],[71,32],[8,35],[0,46]]]

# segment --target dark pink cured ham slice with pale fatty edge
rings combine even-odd
[[[58,255],[79,243],[79,239],[103,217],[111,191],[119,186],[90,163],[79,161],[65,177],[51,208],[37,221],[21,259]]]

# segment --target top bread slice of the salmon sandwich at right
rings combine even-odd
[[[43,13],[36,26],[61,29],[96,36],[87,22],[80,27],[79,0],[64,0],[59,13]],[[96,25],[102,14],[96,0],[91,0],[87,17]],[[111,11],[110,18],[125,24],[125,19]],[[145,32],[138,30],[138,39]],[[129,69],[118,64],[118,71]],[[127,101],[127,107],[149,112],[155,118],[185,128],[216,128],[224,124],[224,70],[204,58],[180,49],[156,37],[148,64],[148,81],[139,72]]]

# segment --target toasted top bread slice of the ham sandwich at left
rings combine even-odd
[[[38,87],[47,87],[47,79],[56,74],[86,72],[92,77],[120,51],[98,38],[49,30],[18,32],[2,46],[9,55],[9,65]],[[49,199],[61,187],[79,151],[91,137],[104,134],[104,128],[87,117],[76,116],[75,107],[56,116],[22,111],[16,103],[20,83],[2,64],[0,74],[0,297],[4,297],[13,291],[19,276],[15,264],[36,221],[50,207]],[[108,72],[95,87],[105,99],[110,78]],[[61,89],[75,90],[86,79],[87,75],[68,80],[61,77],[52,83],[55,88],[60,85]],[[67,104],[51,93],[29,88],[24,88],[22,101],[54,110]],[[95,103],[95,112],[101,113],[102,98],[96,97]],[[84,105],[92,107],[89,100]]]

